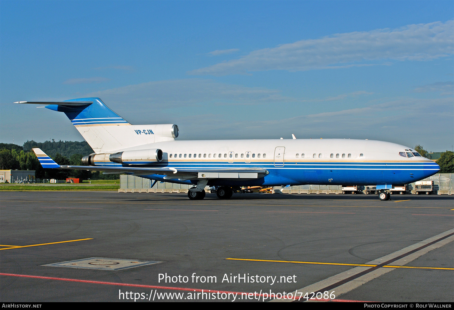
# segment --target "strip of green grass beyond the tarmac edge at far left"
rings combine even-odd
[[[118,190],[117,184],[1,184],[0,191],[42,191],[42,190]]]

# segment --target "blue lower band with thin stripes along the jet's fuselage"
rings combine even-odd
[[[105,165],[107,167],[131,167],[131,165],[120,165],[115,163],[96,162],[96,165]],[[143,165],[142,167],[146,167]],[[176,168],[178,169],[228,169],[228,168],[264,168],[269,174],[262,179],[255,180],[222,180],[216,179],[210,181],[212,185],[299,185],[299,184],[408,184],[436,173],[439,166],[430,162],[397,162],[397,163],[300,163],[285,164],[284,167],[275,167],[273,162],[257,163],[227,163],[227,162],[183,162],[171,161],[161,162],[159,164],[148,165],[154,168]],[[147,177],[149,179],[162,179],[161,177]],[[162,179],[163,180],[163,179]],[[169,180],[166,180],[169,181]],[[178,180],[173,182],[188,184]],[[190,182],[192,183],[192,182]],[[209,184],[210,184],[209,183]],[[241,183],[241,184],[239,184]]]

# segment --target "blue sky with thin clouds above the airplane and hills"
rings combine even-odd
[[[0,1],[0,141],[82,140],[15,101],[100,97],[180,138],[454,144],[453,1]]]

